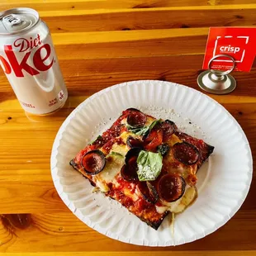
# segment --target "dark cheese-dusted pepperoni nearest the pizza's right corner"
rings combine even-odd
[[[179,162],[190,165],[197,163],[200,153],[195,146],[182,142],[173,145],[173,155]]]

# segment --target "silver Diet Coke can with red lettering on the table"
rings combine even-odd
[[[44,115],[64,105],[68,92],[50,31],[35,10],[0,12],[0,64],[25,111]]]

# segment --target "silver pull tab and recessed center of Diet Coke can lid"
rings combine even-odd
[[[2,18],[2,24],[9,32],[20,31],[21,29],[30,26],[31,22],[25,17],[17,14],[9,14]]]

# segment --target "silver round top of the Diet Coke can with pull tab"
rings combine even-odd
[[[38,12],[31,8],[15,8],[0,12],[0,36],[27,31],[38,21]]]

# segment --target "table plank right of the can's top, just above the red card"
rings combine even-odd
[[[256,5],[40,12],[52,33],[254,26]],[[157,21],[157,22],[156,22]]]

